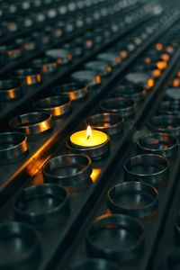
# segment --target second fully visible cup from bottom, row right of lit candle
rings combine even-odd
[[[107,204],[112,213],[144,218],[157,211],[158,193],[149,184],[124,182],[108,191]]]

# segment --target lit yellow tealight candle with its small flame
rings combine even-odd
[[[70,142],[76,147],[93,148],[105,143],[108,136],[99,130],[91,130],[88,126],[86,130],[80,130],[70,136]]]

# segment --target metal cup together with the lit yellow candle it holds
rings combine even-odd
[[[100,130],[80,130],[67,140],[67,151],[83,154],[91,158],[106,156],[110,151],[110,137]]]

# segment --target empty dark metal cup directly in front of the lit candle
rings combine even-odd
[[[92,162],[85,155],[63,155],[50,158],[42,167],[46,183],[65,186],[70,193],[79,191],[91,183]]]

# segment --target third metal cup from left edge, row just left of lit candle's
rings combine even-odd
[[[37,111],[49,112],[52,116],[58,117],[70,111],[70,100],[60,95],[49,96],[33,103]]]

